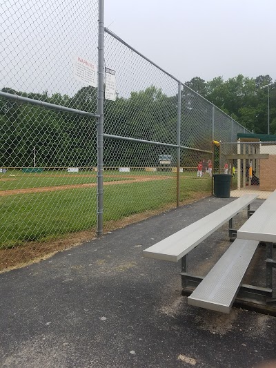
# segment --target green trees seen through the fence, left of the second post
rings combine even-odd
[[[97,113],[97,88],[91,86],[81,88],[72,97],[11,88],[2,91]],[[175,143],[176,122],[175,101],[155,86],[133,92],[129,98],[105,101],[105,132],[111,135]],[[0,166],[32,166],[34,150],[36,166],[97,166],[97,119],[0,98]],[[172,154],[164,147],[151,151],[148,144],[140,144],[137,150],[134,143],[107,139],[104,164],[150,166],[157,164],[159,154]]]

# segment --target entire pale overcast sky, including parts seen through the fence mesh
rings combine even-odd
[[[105,0],[105,24],[182,82],[242,73],[276,79],[276,0]],[[0,89],[74,95],[75,56],[97,68],[97,0],[5,0],[0,6]],[[164,73],[106,37],[117,93],[150,85],[175,95]]]

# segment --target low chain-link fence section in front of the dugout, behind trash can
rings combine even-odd
[[[215,173],[232,175],[232,197],[256,193],[260,199],[266,199],[276,188],[276,142],[248,140],[253,139],[217,145]]]

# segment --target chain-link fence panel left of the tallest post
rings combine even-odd
[[[97,222],[97,20],[97,0],[1,4],[0,269]]]

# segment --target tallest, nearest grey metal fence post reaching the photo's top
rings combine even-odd
[[[97,235],[103,232],[104,0],[99,0],[97,124]]]

